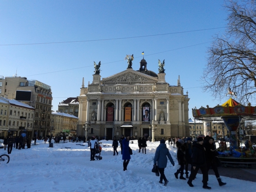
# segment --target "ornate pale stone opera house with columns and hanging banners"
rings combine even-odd
[[[113,139],[121,134],[163,137],[189,136],[188,93],[183,94],[180,76],[177,86],[165,81],[165,73],[147,69],[146,60],[140,69],[126,70],[93,81],[84,87],[79,100],[77,135],[103,136]]]

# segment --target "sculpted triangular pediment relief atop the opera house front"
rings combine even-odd
[[[138,71],[121,72],[114,76],[107,77],[101,81],[102,83],[127,83],[127,82],[157,82],[157,79]]]

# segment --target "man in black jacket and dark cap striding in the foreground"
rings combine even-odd
[[[192,172],[189,175],[188,179],[188,185],[189,187],[194,187],[192,184],[192,180],[196,178],[196,174],[198,170],[200,169],[203,174],[203,188],[204,189],[211,189],[211,187],[207,186],[208,181],[208,170],[207,170],[207,164],[205,159],[205,149],[203,146],[203,138],[198,137],[197,142],[195,145],[193,145],[193,154],[192,154]]]

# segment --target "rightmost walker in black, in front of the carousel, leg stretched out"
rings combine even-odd
[[[216,158],[218,157],[216,157],[216,149],[213,141],[214,139],[212,137],[208,137],[208,140],[204,143],[207,171],[209,171],[210,167],[212,166],[212,170],[215,173],[219,185],[223,186],[226,185],[227,183],[223,183],[220,179],[220,174],[216,163]]]

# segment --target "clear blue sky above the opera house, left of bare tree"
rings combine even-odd
[[[200,88],[210,46],[206,42],[211,42],[215,34],[223,34],[225,28],[220,27],[226,27],[223,4],[223,0],[1,1],[0,75],[12,76],[17,68],[18,76],[50,85],[56,111],[65,98],[79,96],[83,77],[85,85],[92,82],[93,61],[101,61],[100,75],[108,77],[127,68],[126,54],[134,54],[132,67],[138,70],[144,51],[148,70],[157,73],[158,59],[165,59],[166,81],[177,85],[180,75],[184,92],[188,91],[190,98],[192,118],[191,108],[214,107],[228,100],[225,95],[222,101],[213,100]],[[3,45],[147,36],[207,28],[219,29],[105,41]],[[79,69],[66,70],[72,68]],[[49,73],[60,70],[66,71]]]

